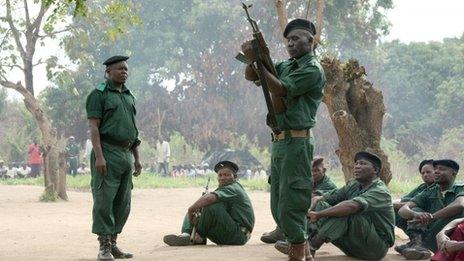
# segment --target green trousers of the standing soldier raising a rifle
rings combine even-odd
[[[312,138],[274,141],[271,153],[271,212],[291,244],[307,239],[306,212],[311,205]]]

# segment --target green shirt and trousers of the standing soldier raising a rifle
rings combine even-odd
[[[292,244],[307,239],[306,211],[311,204],[312,138],[292,138],[290,130],[309,130],[326,82],[322,66],[312,53],[276,64],[287,95],[286,111],[276,116],[285,139],[274,141],[271,152],[271,211]]]

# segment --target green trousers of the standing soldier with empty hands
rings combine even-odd
[[[132,151],[102,143],[106,160],[106,176],[95,168],[95,153],[90,159],[93,196],[92,233],[119,234],[129,217],[132,190]]]

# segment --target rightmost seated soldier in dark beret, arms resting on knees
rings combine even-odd
[[[402,251],[406,259],[427,259],[435,252],[437,233],[451,220],[462,217],[464,185],[455,184],[459,165],[453,160],[436,160],[435,185],[413,197],[398,213],[408,221],[414,244]],[[419,208],[419,210],[414,208]]]

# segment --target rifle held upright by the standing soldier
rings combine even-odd
[[[264,76],[264,68],[266,68],[275,77],[278,77],[277,71],[274,67],[274,64],[272,63],[271,56],[269,55],[269,48],[267,47],[263,34],[259,30],[256,21],[250,17],[250,13],[248,12],[248,9],[251,8],[252,5],[246,5],[242,3],[242,7],[245,9],[247,20],[250,22],[251,28],[253,30],[252,45],[256,54],[256,64],[249,61],[241,52],[235,56],[235,59],[250,65],[258,75],[259,81],[256,81],[255,84],[258,86],[261,85],[263,89],[264,99],[266,100],[268,111],[266,123],[272,129],[272,132],[274,132],[275,135],[278,135],[281,130],[277,124],[276,113],[284,112],[285,104],[281,97],[277,97],[269,92],[268,83]]]

